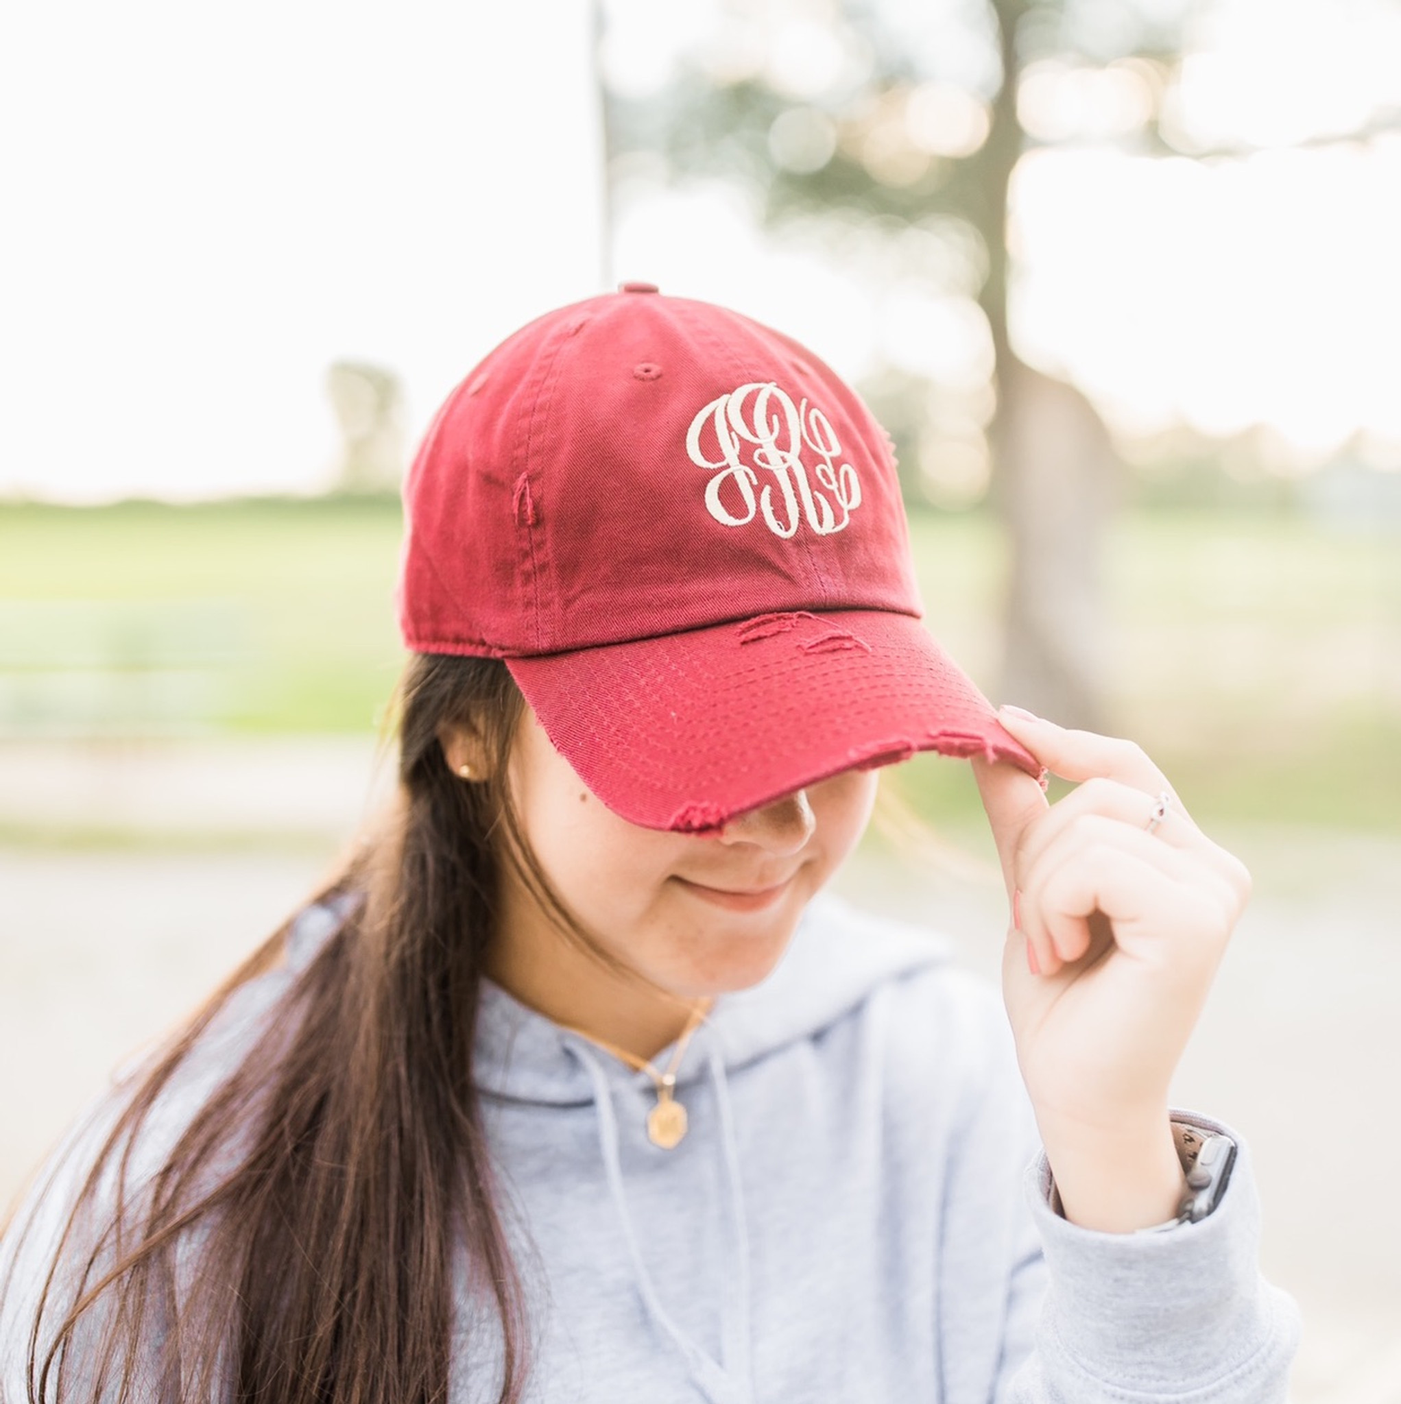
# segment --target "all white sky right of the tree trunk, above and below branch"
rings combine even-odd
[[[1176,126],[1202,152],[1258,150],[1026,159],[1014,331],[1127,430],[1266,424],[1296,466],[1360,432],[1366,456],[1401,468],[1401,7],[1202,14]],[[1369,142],[1329,140],[1369,124]]]

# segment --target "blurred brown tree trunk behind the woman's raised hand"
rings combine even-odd
[[[1098,730],[1105,726],[1102,557],[1119,465],[1089,400],[1028,366],[1008,337],[1007,197],[1023,145],[1016,25],[1030,6],[991,4],[1002,87],[981,153],[988,277],[980,302],[997,365],[992,498],[1008,539],[1000,694],[1065,726]]]

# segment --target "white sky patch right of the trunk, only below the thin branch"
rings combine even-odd
[[[1127,430],[1263,423],[1401,468],[1401,140],[1244,163],[1028,160],[1015,329]],[[1183,275],[1189,271],[1189,275]]]

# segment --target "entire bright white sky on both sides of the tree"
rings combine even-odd
[[[703,4],[629,3],[678,17],[672,55],[703,39]],[[1019,343],[1130,431],[1262,423],[1301,461],[1362,431],[1401,466],[1401,136],[1297,146],[1401,111],[1401,11],[1203,13],[1178,126],[1204,150],[1263,149],[1028,159]],[[581,0],[73,0],[21,7],[7,29],[0,493],[316,489],[336,452],[331,361],[394,369],[417,432],[501,336],[602,286]],[[841,60],[818,38],[785,49],[795,83]],[[656,44],[612,59],[668,72]],[[1035,77],[1025,115],[1046,135],[1112,136],[1131,115],[1131,73]],[[873,293],[713,190],[635,206],[613,267],[773,322],[849,375],[879,352],[967,376],[985,340],[964,299]]]

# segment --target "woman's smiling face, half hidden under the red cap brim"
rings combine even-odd
[[[613,955],[684,998],[762,980],[809,899],[870,817],[873,771],[848,771],[716,834],[640,828],[601,804],[529,708],[510,761],[524,838],[555,893]],[[503,935],[543,921],[507,882]],[[524,935],[524,931],[519,932]]]

